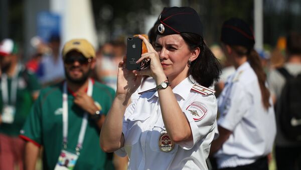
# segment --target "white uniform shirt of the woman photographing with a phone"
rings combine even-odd
[[[199,91],[201,87],[194,89],[193,86],[186,78],[173,89],[190,123],[193,140],[175,144],[170,152],[163,152],[159,147],[161,132],[166,127],[158,92],[143,93],[127,107],[122,129],[124,147],[116,153],[128,155],[128,169],[207,169],[206,158],[217,128],[217,101],[210,89],[204,92],[211,94],[203,95],[203,91]],[[198,114],[193,115],[189,110]]]

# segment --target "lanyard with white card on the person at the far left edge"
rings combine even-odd
[[[2,122],[12,124],[16,115],[16,101],[17,101],[17,89],[18,89],[18,74],[19,66],[16,67],[15,74],[12,78],[11,84],[11,102],[9,101],[9,89],[8,89],[8,77],[5,73],[1,76],[1,89],[2,89]]]

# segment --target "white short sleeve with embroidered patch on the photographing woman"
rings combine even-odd
[[[201,95],[200,95],[201,96]],[[200,140],[203,140],[211,131],[215,131],[217,102],[214,95],[200,97],[182,108],[193,135],[193,140],[178,143],[184,149],[191,149]]]

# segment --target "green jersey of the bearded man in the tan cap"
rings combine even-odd
[[[41,90],[30,115],[21,130],[25,140],[43,145],[44,169],[54,169],[63,149],[63,83]],[[101,106],[101,113],[106,115],[115,96],[110,87],[94,82],[92,98]],[[67,150],[74,151],[83,120],[84,110],[74,102],[74,96],[68,90],[68,143]],[[82,149],[75,165],[76,169],[105,169],[107,155],[100,149],[99,132],[95,120],[89,118]]]

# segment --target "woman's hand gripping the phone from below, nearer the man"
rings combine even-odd
[[[123,61],[118,65],[116,95],[125,95],[124,97],[129,98],[140,86],[141,80],[141,75],[126,69],[126,56],[124,56]]]

